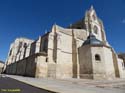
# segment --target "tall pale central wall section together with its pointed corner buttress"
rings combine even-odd
[[[49,34],[48,77],[72,78],[72,36],[65,32],[56,26]]]

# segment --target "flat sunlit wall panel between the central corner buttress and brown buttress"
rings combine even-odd
[[[59,33],[60,38],[57,42],[57,62],[56,77],[72,78],[73,62],[72,62],[72,36]]]

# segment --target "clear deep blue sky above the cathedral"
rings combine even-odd
[[[0,0],[0,60],[17,37],[37,39],[53,24],[63,27],[84,17],[93,5],[109,43],[125,52],[125,0]]]

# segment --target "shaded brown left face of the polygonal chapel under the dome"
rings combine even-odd
[[[79,51],[79,75],[80,78],[93,79],[91,50],[89,46],[80,47]]]

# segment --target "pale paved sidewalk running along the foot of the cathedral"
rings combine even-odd
[[[125,80],[95,81],[85,79],[30,78],[14,75],[7,77],[32,86],[58,93],[125,93]]]

